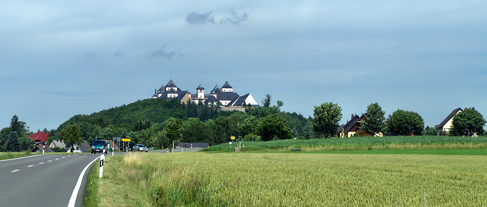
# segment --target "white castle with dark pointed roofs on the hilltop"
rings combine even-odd
[[[198,104],[200,101],[203,103],[220,105],[225,107],[242,107],[250,104],[251,106],[259,106],[254,97],[250,94],[239,96],[233,92],[233,88],[225,81],[225,84],[220,88],[216,85],[209,94],[205,94],[205,88],[201,84],[196,88],[196,94],[191,94],[188,91],[182,91],[179,89],[172,80],[169,80],[168,84],[161,86],[159,90],[154,90],[154,96],[152,98],[163,99],[177,99],[181,103],[186,103],[188,100]]]

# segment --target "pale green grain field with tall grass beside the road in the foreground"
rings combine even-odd
[[[487,205],[485,156],[191,152],[106,159],[104,177],[92,181],[101,206]]]

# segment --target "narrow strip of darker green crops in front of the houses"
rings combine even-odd
[[[237,146],[238,143],[232,143]],[[453,136],[392,136],[392,137],[349,137],[309,140],[274,140],[269,142],[242,142],[246,147],[263,149],[302,150],[356,150],[356,149],[486,149],[487,137]],[[222,151],[229,149],[228,143],[205,148],[204,151]]]

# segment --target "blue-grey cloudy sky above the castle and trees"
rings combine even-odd
[[[377,102],[438,125],[487,115],[485,0],[0,1],[0,127],[31,131],[225,81],[258,103],[343,118]]]

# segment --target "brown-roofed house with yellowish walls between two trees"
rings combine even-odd
[[[365,131],[362,131],[362,129],[360,129],[360,125],[362,124],[362,121],[364,119],[365,119],[365,113],[363,113],[361,116],[358,116],[357,114],[352,114],[352,119],[350,119],[350,121],[337,128],[337,133],[335,133],[335,137],[337,136],[339,137],[355,137],[355,136],[382,137],[383,136],[382,132],[372,135],[366,133]]]

